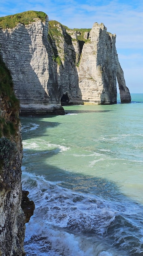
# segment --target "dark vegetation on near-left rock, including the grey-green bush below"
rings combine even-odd
[[[11,74],[0,56],[0,171],[15,155],[20,104],[15,97]]]

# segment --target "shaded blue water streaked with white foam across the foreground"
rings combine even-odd
[[[76,193],[59,183],[22,174],[23,189],[30,191],[36,206],[26,225],[27,256],[126,256],[143,252],[143,219],[134,218],[143,211],[139,204],[127,201],[125,205]]]

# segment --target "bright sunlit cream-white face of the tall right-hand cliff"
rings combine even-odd
[[[99,33],[91,29],[89,41],[83,45],[78,67],[79,87],[83,101],[100,103],[103,90],[101,70],[97,65]]]

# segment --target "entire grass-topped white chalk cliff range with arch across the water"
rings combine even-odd
[[[69,29],[48,22],[42,12],[0,18],[0,45],[11,70],[21,112],[64,114],[61,102],[113,104],[130,102],[115,47],[115,34],[103,24]]]

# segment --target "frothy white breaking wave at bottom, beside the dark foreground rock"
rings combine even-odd
[[[26,226],[26,235],[24,248],[27,256],[31,253],[35,256],[87,256],[73,234],[55,230],[45,222],[35,225],[35,221],[31,220]]]

